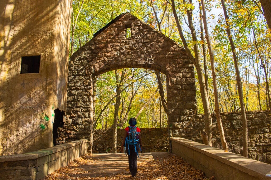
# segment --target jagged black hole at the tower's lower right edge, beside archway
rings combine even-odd
[[[54,110],[54,123],[53,123],[53,143],[54,143],[54,146],[59,144],[59,142],[58,142],[58,138],[59,138],[58,128],[63,127],[64,116],[65,116],[65,111],[60,111],[59,108]]]

